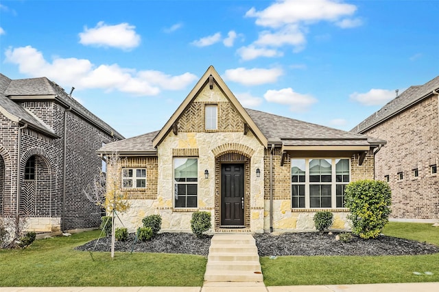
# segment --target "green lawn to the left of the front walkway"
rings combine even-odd
[[[25,250],[0,250],[0,287],[201,286],[207,259],[183,254],[88,252],[75,246],[99,231],[34,241]]]

